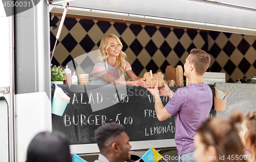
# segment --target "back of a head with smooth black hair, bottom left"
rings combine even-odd
[[[59,132],[40,132],[29,144],[27,162],[71,162],[69,143]]]

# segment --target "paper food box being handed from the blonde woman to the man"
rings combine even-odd
[[[158,72],[157,75],[153,76],[151,79],[151,73],[150,72],[146,72],[143,76],[143,78],[145,78],[145,82],[150,83],[151,88],[155,87],[155,84],[158,83],[158,87],[162,87],[163,86],[163,74],[161,72]]]

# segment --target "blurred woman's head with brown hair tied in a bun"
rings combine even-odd
[[[230,119],[214,117],[206,120],[195,135],[196,161],[245,161],[243,158],[231,158],[232,155],[243,156],[243,145],[236,127],[242,119],[243,114],[236,112]]]

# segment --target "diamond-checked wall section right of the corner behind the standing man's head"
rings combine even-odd
[[[211,72],[226,73],[226,82],[256,76],[256,36],[210,31],[208,43]]]

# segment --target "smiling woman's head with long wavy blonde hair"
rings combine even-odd
[[[123,71],[125,74],[125,60],[126,54],[122,52],[122,42],[114,34],[108,34],[101,38],[100,40],[100,54],[99,61],[106,61],[109,57],[116,56],[116,67]],[[119,53],[116,54],[114,51],[118,49]],[[117,56],[118,55],[118,56]]]

